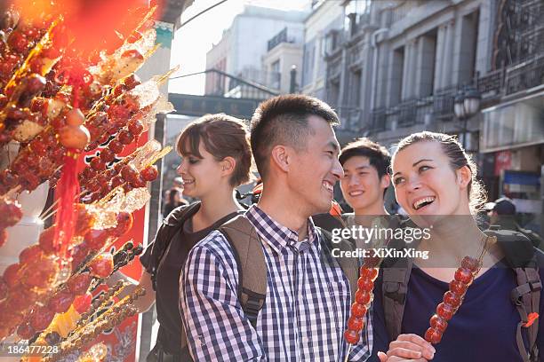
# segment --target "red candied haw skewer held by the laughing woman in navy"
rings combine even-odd
[[[450,282],[450,288],[444,293],[443,302],[436,307],[436,314],[430,318],[430,327],[425,332],[425,340],[432,344],[437,344],[442,340],[442,335],[448,327],[448,320],[459,310],[463,303],[468,287],[472,284],[478,272],[482,268],[482,260],[485,253],[497,241],[495,236],[486,236],[482,245],[480,256],[465,256],[461,261],[460,268],[455,271],[455,276]]]

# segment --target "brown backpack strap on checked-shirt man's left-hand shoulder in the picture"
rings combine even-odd
[[[247,217],[239,215],[219,228],[230,244],[238,267],[238,298],[247,319],[257,326],[267,296],[267,264],[259,234]]]

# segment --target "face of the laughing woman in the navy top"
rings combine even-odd
[[[420,141],[396,153],[396,201],[410,216],[468,215],[468,168],[453,170],[436,141]]]

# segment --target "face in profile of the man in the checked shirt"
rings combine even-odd
[[[316,115],[308,117],[308,127],[312,132],[305,140],[305,149],[292,151],[287,182],[296,199],[292,206],[311,216],[331,209],[332,187],[343,170],[332,127]]]

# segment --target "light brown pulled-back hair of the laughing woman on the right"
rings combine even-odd
[[[484,185],[476,178],[477,168],[476,163],[465,152],[459,140],[455,136],[446,135],[445,133],[429,132],[427,130],[403,138],[393,154],[395,159],[396,154],[404,150],[404,148],[416,144],[418,142],[438,142],[442,146],[445,155],[450,159],[452,169],[460,169],[467,166],[472,174],[472,179],[468,182],[468,206],[470,212],[476,214],[487,201]]]

